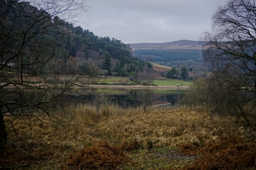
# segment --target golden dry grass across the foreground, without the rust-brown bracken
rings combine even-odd
[[[223,134],[239,136],[243,142],[256,139],[256,131],[243,127],[234,117],[210,116],[202,112],[202,108],[148,108],[150,111],[145,112],[143,108],[124,109],[109,104],[100,104],[97,108],[80,104],[64,109],[61,114],[56,113],[72,124],[64,130],[56,130],[53,126],[36,119],[15,120],[13,125],[22,137],[20,139],[7,123],[8,148],[0,157],[0,166],[38,164],[47,161],[47,164],[50,161],[54,165],[62,165],[67,155],[78,154],[80,151],[86,153],[85,149],[98,146],[102,140],[120,145],[123,152],[163,146],[181,147],[184,144],[203,147],[208,142],[217,144]],[[47,117],[42,119],[48,121]],[[102,164],[104,167],[112,167],[111,163]],[[68,167],[70,168],[70,165]],[[80,164],[77,167],[82,168]]]

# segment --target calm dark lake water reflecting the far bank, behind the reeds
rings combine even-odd
[[[143,103],[171,106],[178,104],[186,92],[184,89],[83,88],[72,96],[72,100],[75,103],[115,103],[123,107],[137,107]]]

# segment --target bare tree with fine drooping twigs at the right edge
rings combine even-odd
[[[213,97],[249,126],[248,117],[256,108],[255,1],[228,0],[215,12],[212,23],[212,31],[202,40],[210,79],[217,87]]]

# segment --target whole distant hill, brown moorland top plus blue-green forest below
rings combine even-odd
[[[200,70],[203,62],[202,43],[192,40],[178,40],[168,43],[129,44],[133,54],[139,59],[192,70]]]

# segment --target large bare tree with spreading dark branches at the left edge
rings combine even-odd
[[[0,154],[7,144],[5,123],[43,121],[38,114],[45,114],[47,123],[65,126],[49,108],[71,92],[69,87],[87,85],[89,76],[69,65],[72,60],[56,37],[70,34],[60,17],[86,11],[85,2],[0,0]]]

